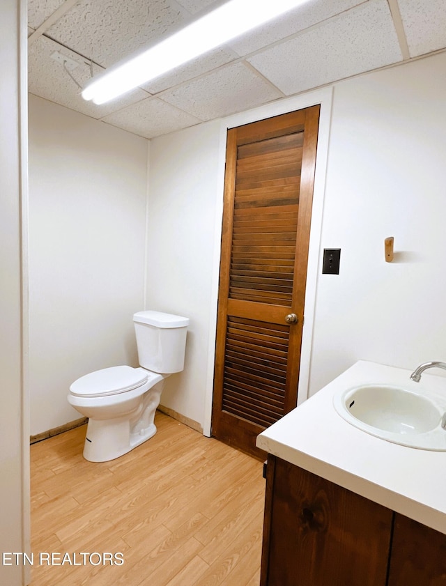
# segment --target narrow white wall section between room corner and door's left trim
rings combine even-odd
[[[203,425],[215,213],[222,200],[220,122],[153,142],[146,307],[190,318],[185,369],[166,380],[161,403]]]

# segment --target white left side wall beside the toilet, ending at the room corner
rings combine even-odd
[[[29,98],[31,434],[82,417],[73,380],[137,366],[148,141]]]

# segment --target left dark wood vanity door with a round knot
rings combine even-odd
[[[392,511],[272,460],[262,585],[385,586]]]

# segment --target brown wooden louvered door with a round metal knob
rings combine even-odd
[[[297,403],[318,119],[227,135],[212,434],[259,457],[256,436]]]

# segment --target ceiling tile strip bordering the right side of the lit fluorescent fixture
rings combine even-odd
[[[353,8],[353,6],[357,6],[362,2],[360,0],[307,2],[299,6],[299,8],[290,10],[284,16],[272,20],[269,24],[254,29],[240,40],[233,41],[231,47],[240,56],[245,56],[289,35],[303,31],[309,26],[314,26],[318,22],[323,22],[334,15],[343,13],[345,10]]]

